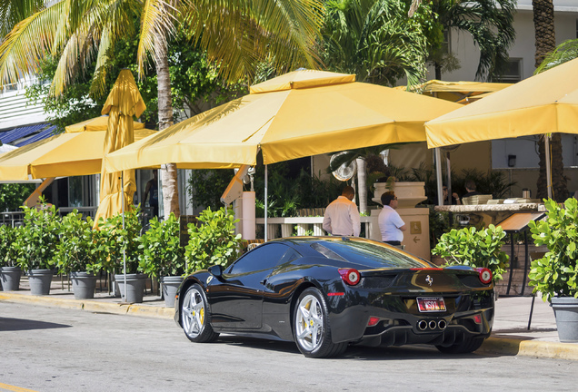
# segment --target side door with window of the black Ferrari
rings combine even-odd
[[[214,328],[261,328],[266,278],[290,248],[266,243],[224,271],[219,284],[208,286]]]

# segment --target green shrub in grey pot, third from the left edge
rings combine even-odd
[[[73,211],[62,219],[55,262],[60,273],[70,275],[75,299],[95,298],[96,276],[103,268],[104,244],[90,217]]]

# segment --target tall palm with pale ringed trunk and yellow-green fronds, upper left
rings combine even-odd
[[[255,65],[264,60],[278,71],[319,63],[315,44],[323,23],[322,0],[60,0],[36,12],[32,5],[37,0],[20,2],[30,5],[29,16],[14,25],[0,46],[0,83],[35,73],[45,56],[57,54],[51,93],[62,93],[93,60],[95,90],[102,89],[109,49],[117,39],[139,33],[132,23],[136,15],[141,20],[139,73],[153,54],[158,74],[160,130],[173,123],[166,48],[178,24],[190,32],[192,44],[221,64],[226,80],[250,79]],[[175,166],[164,169],[164,213],[178,216]]]

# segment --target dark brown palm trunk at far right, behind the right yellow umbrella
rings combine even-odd
[[[547,54],[553,53],[556,46],[554,34],[554,14],[553,0],[532,0],[533,6],[533,25],[535,30],[535,66],[536,72],[543,71],[541,65]],[[552,63],[548,61],[546,64]],[[562,136],[560,133],[552,134],[550,142],[552,158],[552,189],[553,199],[555,201],[565,201],[568,196],[567,178],[563,174],[562,160]],[[544,142],[539,143],[538,153],[540,155],[540,174],[536,184],[538,191],[537,197],[543,199],[548,196],[548,185],[546,183],[546,153]]]

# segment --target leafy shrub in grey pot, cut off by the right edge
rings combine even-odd
[[[534,243],[548,251],[532,260],[529,285],[550,301],[560,341],[578,342],[578,201],[570,198],[559,205],[547,200],[544,205],[545,220],[529,226]]]

